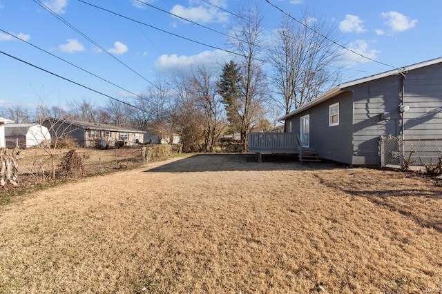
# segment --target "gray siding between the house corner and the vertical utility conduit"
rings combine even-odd
[[[377,165],[379,136],[400,135],[401,77],[358,84],[354,92],[354,117],[352,136],[352,164]],[[384,112],[390,112],[390,120],[381,119]]]

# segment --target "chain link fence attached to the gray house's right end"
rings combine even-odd
[[[442,157],[442,139],[379,139],[381,167],[423,171],[436,166]]]

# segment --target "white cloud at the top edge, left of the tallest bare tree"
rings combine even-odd
[[[189,1],[192,3],[192,1]],[[212,1],[213,2],[213,1]],[[224,1],[216,1],[218,7],[225,6]],[[170,11],[179,17],[189,19],[198,23],[222,23],[229,20],[229,14],[224,12],[215,6],[209,6],[206,3],[202,3],[200,6],[184,7],[181,5],[175,5]]]

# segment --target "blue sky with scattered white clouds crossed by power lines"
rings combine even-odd
[[[36,0],[37,1],[37,0]],[[144,92],[148,81],[172,75],[178,69],[192,66],[219,68],[231,59],[227,52],[186,41],[159,30],[134,23],[114,14],[93,8],[78,0],[40,0],[60,17],[93,39],[104,50],[137,72],[122,66],[41,8],[36,1],[0,0],[0,29],[43,48],[76,66],[112,81],[131,92]],[[84,0],[150,26],[169,31],[216,48],[228,49],[226,37],[186,23],[169,14],[135,0]],[[151,5],[180,15],[214,30],[228,33],[240,0],[144,0]],[[304,8],[314,17],[324,17],[341,34],[339,43],[367,57],[400,68],[442,56],[442,1],[425,0],[269,0],[300,18]],[[38,1],[37,1],[38,2]],[[223,10],[209,5],[214,4]],[[278,26],[281,12],[264,0],[256,0],[265,16],[269,35]],[[33,63],[79,84],[118,99],[131,101],[131,94],[92,77],[73,66],[41,52],[10,35],[0,32],[0,50]],[[391,70],[374,61],[345,53],[350,61],[342,68],[343,81]],[[107,98],[80,88],[68,81],[52,77],[11,57],[0,54],[0,106],[19,105],[36,108],[65,108],[71,101],[86,100],[102,106]],[[147,81],[146,81],[147,80]]]

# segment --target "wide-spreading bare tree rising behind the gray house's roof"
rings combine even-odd
[[[341,51],[329,41],[338,38],[336,30],[325,19],[311,17],[307,10],[302,23],[288,17],[283,19],[269,51],[278,94],[276,103],[286,114],[318,97],[339,78],[332,66],[336,65]]]

